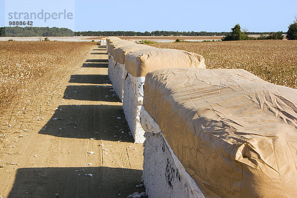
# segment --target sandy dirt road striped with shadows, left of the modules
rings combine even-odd
[[[0,153],[1,197],[126,198],[145,192],[136,187],[143,146],[128,134],[107,77],[106,50],[99,47],[65,76],[46,116]]]

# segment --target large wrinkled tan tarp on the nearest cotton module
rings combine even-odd
[[[207,198],[297,197],[297,90],[240,69],[148,73],[144,107]]]

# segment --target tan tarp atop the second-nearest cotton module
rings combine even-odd
[[[146,76],[148,72],[162,68],[205,68],[204,57],[178,49],[142,49],[126,55],[125,69],[134,77]]]

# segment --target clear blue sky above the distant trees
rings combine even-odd
[[[34,0],[8,1],[25,7]],[[59,7],[38,1],[45,9]],[[5,23],[4,2],[0,0],[0,26]],[[75,0],[75,31],[229,32],[239,23],[250,32],[286,32],[295,16],[297,0]]]

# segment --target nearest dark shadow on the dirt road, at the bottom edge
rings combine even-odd
[[[55,198],[56,194],[60,198],[126,198],[129,194],[125,192],[134,192],[135,186],[140,184],[136,176],[140,178],[142,170],[110,167],[20,168],[8,198]],[[144,188],[139,189],[144,191]]]

